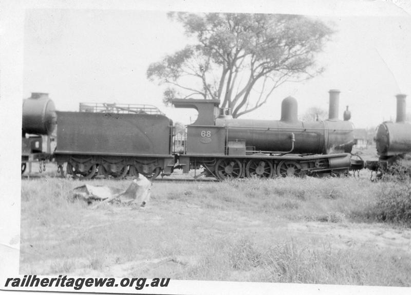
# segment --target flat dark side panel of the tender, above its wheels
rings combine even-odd
[[[56,153],[169,155],[162,115],[58,112]]]

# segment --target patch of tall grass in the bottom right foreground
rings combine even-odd
[[[266,247],[241,237],[217,242],[202,263],[191,267],[190,275],[231,281],[411,286],[410,263],[406,253],[394,251],[342,250],[329,243],[313,247],[298,239]]]

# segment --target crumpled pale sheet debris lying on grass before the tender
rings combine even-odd
[[[140,204],[140,207],[144,207],[150,200],[151,186],[152,182],[139,174],[126,190],[108,186],[84,185],[74,188],[72,193],[74,198],[84,199],[88,204],[95,200],[102,201],[92,209],[114,200],[124,204]]]

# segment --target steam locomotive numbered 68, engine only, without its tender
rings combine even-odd
[[[348,171],[353,125],[348,110],[338,119],[339,93],[330,90],[330,117],[316,122],[299,121],[291,97],[283,100],[279,121],[234,119],[227,110],[214,118],[218,100],[173,100],[175,107],[198,110],[179,155],[183,172],[203,167],[203,174],[225,179]]]

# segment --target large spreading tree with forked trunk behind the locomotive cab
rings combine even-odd
[[[333,33],[301,15],[172,12],[169,17],[196,42],[152,63],[147,78],[169,86],[165,103],[193,95],[220,99],[233,117],[266,103],[286,81],[319,75],[324,69],[315,55]]]

